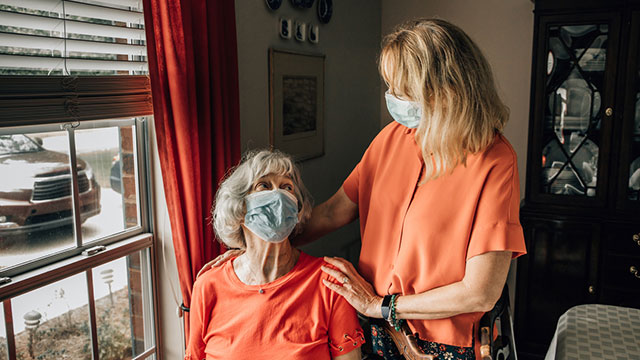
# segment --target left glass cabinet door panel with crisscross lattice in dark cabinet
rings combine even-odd
[[[547,27],[544,95],[539,103],[544,104],[539,145],[542,194],[592,198],[603,189],[603,118],[611,116],[603,101],[605,82],[612,75],[606,61],[609,39],[606,22]]]

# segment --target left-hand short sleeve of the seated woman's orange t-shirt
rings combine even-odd
[[[207,312],[205,311],[204,286],[202,278],[193,285],[191,305],[189,307],[189,340],[185,351],[185,360],[201,360],[206,357],[204,350],[205,331],[209,325]]]

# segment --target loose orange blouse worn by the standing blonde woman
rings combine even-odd
[[[358,204],[359,269],[378,295],[418,294],[458,282],[466,261],[488,251],[526,253],[518,213],[516,154],[502,135],[436,180],[418,186],[415,129],[385,127],[345,180]],[[482,313],[409,320],[423,340],[470,347]]]

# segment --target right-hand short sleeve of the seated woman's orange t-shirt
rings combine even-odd
[[[329,350],[331,356],[336,357],[359,348],[365,340],[356,310],[342,296],[329,291],[332,304],[329,318]]]

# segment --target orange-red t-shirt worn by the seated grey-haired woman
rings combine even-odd
[[[232,263],[193,286],[185,360],[330,359],[364,343],[353,307],[322,283],[322,259],[300,253],[263,285],[244,284]]]

